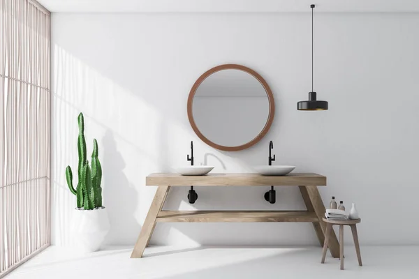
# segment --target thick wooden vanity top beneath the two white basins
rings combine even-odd
[[[146,186],[326,186],[326,176],[310,173],[291,173],[284,176],[260,174],[149,174]]]

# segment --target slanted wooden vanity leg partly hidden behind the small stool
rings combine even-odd
[[[304,203],[307,206],[307,210],[316,212],[318,223],[313,223],[313,225],[316,230],[318,241],[321,243],[321,246],[323,246],[327,226],[322,220],[325,216],[326,209],[323,201],[321,200],[320,193],[318,193],[317,186],[299,186],[299,188],[302,199],[304,199]],[[328,245],[332,257],[339,257],[339,242],[337,241],[337,237],[333,229],[330,231]]]

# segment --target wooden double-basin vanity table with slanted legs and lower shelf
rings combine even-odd
[[[307,207],[306,211],[162,211],[172,186],[298,186]],[[181,176],[180,174],[150,174],[146,186],[159,186],[150,206],[132,258],[142,257],[158,222],[310,222],[318,241],[323,246],[326,224],[323,222],[325,206],[317,186],[326,186],[326,176],[320,174],[291,173],[286,176],[260,174],[207,174]],[[332,231],[328,246],[332,257],[339,257],[339,243]]]

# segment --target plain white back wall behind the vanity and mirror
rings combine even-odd
[[[327,112],[297,112],[311,89],[308,14],[54,14],[53,195],[55,244],[66,244],[75,197],[64,169],[77,165],[77,115],[84,112],[88,153],[94,137],[112,230],[108,243],[133,244],[152,202],[145,176],[196,162],[214,172],[249,172],[267,163],[328,176],[321,188],[358,204],[360,241],[419,243],[419,15],[316,15],[316,83]],[[277,106],[270,132],[256,146],[221,152],[200,142],[186,115],[196,79],[213,66],[239,63],[270,85]],[[170,190],[166,209],[304,209],[297,188]],[[351,239],[347,238],[349,242]],[[311,224],[181,223],[157,225],[152,243],[316,244]]]

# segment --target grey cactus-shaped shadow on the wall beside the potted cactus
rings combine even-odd
[[[124,169],[124,158],[117,149],[117,142],[112,131],[107,130],[102,138],[103,162],[103,198],[108,209],[110,218],[110,232],[106,237],[106,243],[127,243],[130,239],[121,239],[121,231],[140,232],[141,226],[135,219],[135,211],[138,205],[137,193],[134,185],[129,183]]]

